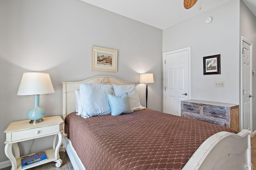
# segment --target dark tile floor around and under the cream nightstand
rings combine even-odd
[[[47,164],[39,165],[34,168],[30,168],[29,170],[74,170],[69,158],[67,152],[60,152],[60,158],[62,160],[62,165],[60,168],[57,168],[55,166],[56,162],[49,162]],[[6,168],[2,168],[0,170],[10,170],[11,166],[8,166]]]

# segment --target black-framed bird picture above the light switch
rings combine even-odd
[[[204,75],[220,74],[220,54],[203,57]]]

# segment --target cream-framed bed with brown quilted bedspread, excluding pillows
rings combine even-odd
[[[62,83],[63,144],[74,169],[252,169],[249,130],[236,133],[151,109],[84,119],[75,112],[75,91],[84,83],[135,85],[110,76]]]

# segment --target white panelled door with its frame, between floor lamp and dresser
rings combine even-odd
[[[163,112],[180,116],[180,101],[190,99],[190,47],[163,54]]]

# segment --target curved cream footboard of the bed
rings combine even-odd
[[[238,134],[218,132],[196,150],[182,170],[251,170],[251,138],[249,130]]]

